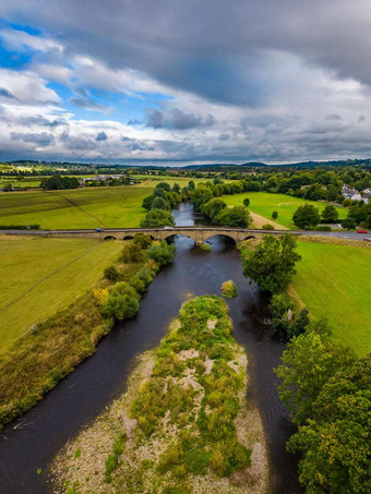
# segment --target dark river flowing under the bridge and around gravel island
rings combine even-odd
[[[191,204],[172,212],[177,226],[202,221]],[[132,321],[117,325],[96,351],[59,383],[21,419],[0,432],[0,493],[50,494],[50,462],[63,444],[96,418],[110,401],[125,390],[135,356],[155,347],[185,298],[220,294],[220,286],[232,279],[238,297],[228,301],[235,337],[243,345],[251,378],[248,398],[261,412],[265,429],[273,494],[296,494],[296,459],[286,453],[285,442],[292,426],[279,401],[273,368],[284,349],[264,324],[266,301],[256,285],[242,276],[234,245],[219,237],[208,242],[212,252],[192,249],[193,241],[177,237],[173,264],[161,270],[141,301]],[[37,471],[40,472],[37,473]]]

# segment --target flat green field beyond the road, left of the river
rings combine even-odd
[[[163,179],[171,185],[178,182],[184,186],[189,182]],[[157,183],[158,180],[147,180],[137,185],[2,192],[0,225],[38,224],[43,229],[139,227],[146,213],[142,201]]]

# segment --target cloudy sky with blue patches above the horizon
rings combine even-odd
[[[1,0],[0,159],[371,157],[370,0]]]

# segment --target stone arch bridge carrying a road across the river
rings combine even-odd
[[[9,231],[15,233],[15,231]],[[236,243],[243,240],[259,238],[264,233],[282,234],[287,233],[286,230],[253,230],[243,228],[226,228],[226,227],[165,227],[165,228],[105,228],[96,230],[21,230],[22,234],[40,234],[43,237],[59,237],[59,238],[97,238],[101,240],[129,240],[134,238],[135,233],[146,233],[154,240],[166,240],[176,234],[189,237],[194,240],[196,245],[201,245],[205,240],[214,236],[225,236],[232,239]],[[292,232],[290,233],[298,233]]]

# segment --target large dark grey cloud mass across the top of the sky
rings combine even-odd
[[[5,0],[2,11],[59,33],[67,55],[141,70],[218,101],[260,104],[272,85],[261,61],[277,50],[371,84],[369,0],[106,0],[94,9],[88,0],[64,0],[58,15],[49,0],[38,0],[37,9]]]

